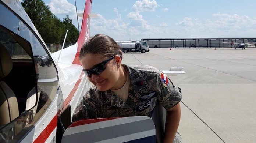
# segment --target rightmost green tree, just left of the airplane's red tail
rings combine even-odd
[[[65,31],[68,30],[65,43],[74,44],[75,42],[77,42],[77,39],[79,36],[77,28],[72,24],[72,19],[70,19],[68,15],[66,15],[66,17],[63,18],[62,22],[63,22]],[[63,35],[63,40],[64,40],[64,37],[65,37],[65,33]]]

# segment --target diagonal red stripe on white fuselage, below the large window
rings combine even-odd
[[[60,114],[68,107],[70,104],[70,101],[74,97],[75,92],[77,91],[78,85],[80,84],[82,80],[83,72],[81,72],[79,79],[75,83],[75,86],[70,91],[70,94],[65,99],[63,105],[58,110],[57,114],[53,117],[53,119],[50,121],[50,123],[46,126],[46,128],[40,133],[40,135],[36,138],[36,140],[33,143],[44,143],[46,139],[50,136],[51,132],[57,127],[57,119],[60,116]]]

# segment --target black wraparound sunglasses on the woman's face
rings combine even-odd
[[[114,59],[115,56],[104,60],[103,62],[96,64],[95,66],[93,66],[90,70],[85,70],[83,69],[83,72],[85,73],[86,76],[88,76],[89,78],[92,77],[92,74],[95,75],[99,75],[101,74],[105,69],[106,69],[106,64],[107,62],[109,62],[110,60]]]

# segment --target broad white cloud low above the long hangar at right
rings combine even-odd
[[[216,20],[200,21],[197,18],[184,18],[176,23],[186,37],[254,37],[256,18],[246,15],[215,13]]]

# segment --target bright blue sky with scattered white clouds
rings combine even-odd
[[[75,0],[43,0],[77,26]],[[85,0],[76,0],[78,13]],[[256,0],[92,0],[90,35],[141,38],[256,37]],[[81,23],[81,18],[79,19]],[[79,24],[81,26],[81,24]]]

